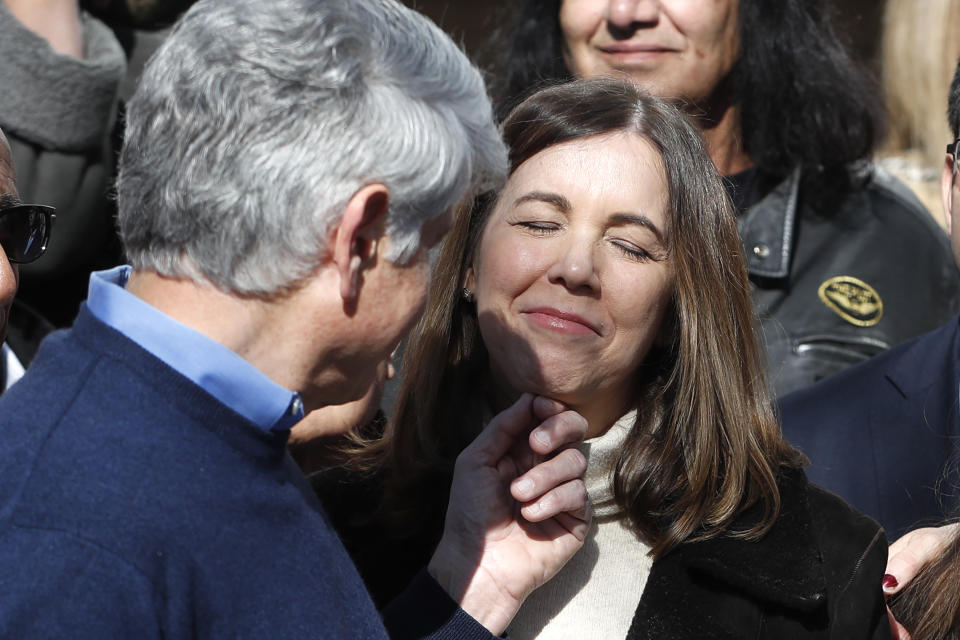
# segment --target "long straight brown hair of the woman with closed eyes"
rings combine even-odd
[[[636,389],[636,423],[614,471],[618,503],[659,556],[727,531],[762,501],[765,517],[732,535],[753,538],[779,509],[780,465],[801,457],[770,409],[736,223],[697,131],[667,103],[615,80],[542,90],[506,119],[511,172],[551,146],[632,133],[661,156],[669,193],[668,251],[675,272],[666,335]],[[404,356],[404,382],[379,450],[390,468],[387,504],[416,528],[436,505],[423,496],[446,478],[479,433],[487,353],[476,309],[461,296],[493,199],[458,217],[445,241],[426,313]]]

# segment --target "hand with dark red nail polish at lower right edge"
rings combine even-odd
[[[957,535],[955,522],[942,527],[925,527],[915,529],[890,545],[887,559],[887,571],[883,576],[883,593],[892,596],[910,583],[920,570],[937,559],[947,548],[947,545]],[[893,617],[887,608],[890,619],[890,630],[895,640],[910,640],[910,634]]]

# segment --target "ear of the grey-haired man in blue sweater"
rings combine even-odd
[[[352,306],[360,296],[363,271],[376,263],[390,192],[368,184],[350,198],[333,238],[333,262],[340,274],[340,297]]]

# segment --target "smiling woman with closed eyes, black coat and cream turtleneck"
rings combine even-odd
[[[448,489],[460,452],[533,393],[587,419],[594,525],[515,640],[889,637],[885,538],[809,485],[780,435],[736,223],[694,127],[593,79],[531,96],[504,136],[507,184],[443,245],[374,472],[314,477],[375,598],[430,557],[446,504],[468,508]]]

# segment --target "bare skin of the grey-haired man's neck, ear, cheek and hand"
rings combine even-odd
[[[351,402],[370,389],[419,316],[429,249],[449,226],[443,215],[425,223],[417,253],[393,264],[389,204],[383,184],[358,190],[330,230],[316,272],[282,295],[235,296],[146,269],[134,269],[126,288],[299,392],[308,410]],[[562,404],[526,394],[458,459],[451,491],[460,497],[451,501],[428,569],[495,635],[583,543],[586,460],[573,445],[586,426]]]

